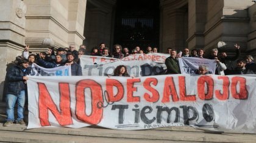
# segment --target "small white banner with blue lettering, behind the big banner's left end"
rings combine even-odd
[[[32,64],[30,76],[71,76],[71,66],[63,65],[54,68],[44,68],[37,64]]]

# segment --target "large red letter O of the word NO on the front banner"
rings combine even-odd
[[[85,88],[91,90],[91,114],[86,115]],[[98,82],[91,79],[84,79],[76,84],[76,117],[88,124],[98,124],[101,122],[103,108],[98,107],[98,103],[103,103],[102,88]]]

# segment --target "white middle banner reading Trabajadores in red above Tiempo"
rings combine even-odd
[[[166,71],[165,59],[168,56],[162,53],[135,54],[123,59],[81,56],[80,65],[83,76],[113,75],[118,65],[126,65],[129,75],[135,77],[163,75]]]

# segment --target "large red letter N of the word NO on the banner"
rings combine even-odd
[[[59,84],[60,91],[60,111],[52,101],[51,95],[49,94],[46,86],[43,83],[38,83],[39,98],[39,118],[41,126],[51,125],[49,123],[48,111],[52,112],[56,120],[60,125],[71,125],[73,124],[70,110],[70,96],[69,96],[69,85],[67,83]]]

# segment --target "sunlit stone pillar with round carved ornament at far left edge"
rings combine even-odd
[[[0,0],[0,99],[7,65],[21,55],[25,41],[26,5],[20,0]]]

